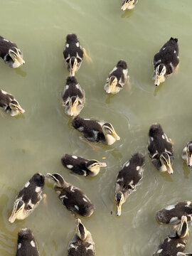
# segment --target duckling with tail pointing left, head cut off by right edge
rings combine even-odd
[[[181,217],[186,216],[187,221],[192,220],[192,202],[179,202],[156,213],[156,218],[161,224],[174,224],[181,221]]]

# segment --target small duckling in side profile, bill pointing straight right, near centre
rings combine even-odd
[[[88,160],[80,156],[72,156],[64,154],[61,158],[61,163],[66,168],[75,172],[75,174],[83,176],[96,176],[100,172],[100,167],[106,167],[106,163],[101,163],[97,160]]]

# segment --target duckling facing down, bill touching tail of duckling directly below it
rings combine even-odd
[[[80,69],[80,65],[84,57],[82,46],[80,45],[78,37],[75,35],[75,33],[70,33],[66,37],[63,55],[68,70],[70,71],[70,76],[74,76],[75,72],[77,72]]]

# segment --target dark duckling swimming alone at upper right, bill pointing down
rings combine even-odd
[[[178,39],[170,38],[158,53],[154,55],[154,75],[155,85],[164,82],[168,75],[174,72],[179,63]]]

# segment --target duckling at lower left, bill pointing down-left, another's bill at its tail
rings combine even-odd
[[[46,196],[45,194],[42,195],[44,184],[45,176],[38,173],[26,182],[14,202],[14,209],[9,218],[10,223],[14,223],[16,219],[23,220],[33,212]]]

